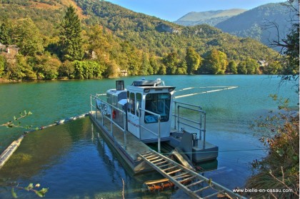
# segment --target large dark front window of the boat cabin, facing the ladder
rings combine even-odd
[[[146,95],[146,107],[147,111],[159,114],[161,116],[161,122],[169,121],[171,104],[170,93],[149,93]],[[158,122],[157,116],[151,113],[145,113],[145,123]]]

